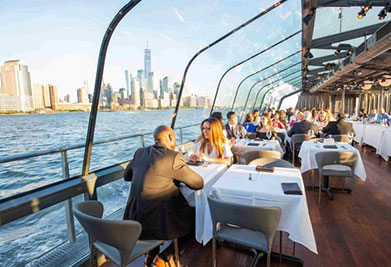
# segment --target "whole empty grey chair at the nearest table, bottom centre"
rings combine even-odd
[[[262,252],[267,253],[267,266],[280,222],[279,207],[257,207],[221,201],[208,196],[213,221],[212,266],[216,267],[216,239],[225,240],[241,246],[255,249],[251,266],[256,266]],[[221,223],[217,231],[216,224]],[[233,224],[240,228],[227,226]]]

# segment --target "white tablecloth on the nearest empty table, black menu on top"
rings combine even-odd
[[[284,182],[297,182],[303,195],[285,195],[281,187]],[[211,194],[239,204],[280,207],[281,220],[277,229],[289,233],[289,239],[294,242],[318,253],[299,170],[275,168],[274,173],[266,173],[255,171],[255,166],[232,165],[213,185]],[[212,228],[212,224],[208,227]]]

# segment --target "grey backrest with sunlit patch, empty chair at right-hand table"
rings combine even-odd
[[[350,151],[321,151],[315,154],[315,160],[320,174],[328,165],[344,165],[353,170],[357,162],[357,154]]]

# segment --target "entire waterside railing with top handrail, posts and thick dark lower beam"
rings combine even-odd
[[[184,143],[183,129],[191,128],[195,126],[199,126],[199,124],[197,123],[197,124],[186,125],[175,129],[178,130],[179,132],[178,133],[179,144]],[[138,137],[140,140],[139,141],[140,147],[144,147],[145,145],[144,137],[152,134],[153,132],[125,135],[121,137],[100,140],[94,142],[93,145],[100,145],[100,144]],[[67,220],[68,240],[69,242],[74,243],[76,240],[76,232],[75,232],[75,224],[74,224],[73,212],[72,212],[72,197],[77,194],[89,192],[91,190],[91,185],[95,187],[94,195],[96,196],[96,187],[120,179],[123,169],[124,167],[126,167],[126,164],[128,162],[126,161],[108,168],[96,170],[85,177],[81,177],[81,176],[70,177],[67,152],[69,150],[83,148],[84,146],[85,143],[0,158],[0,164],[1,164],[1,163],[24,160],[28,158],[40,157],[43,155],[61,153],[61,167],[62,167],[62,177],[63,177],[62,181],[1,199],[0,200],[0,226],[12,222],[21,217],[24,217],[26,215],[30,215],[32,213],[38,212],[42,208],[50,207],[52,205],[55,205],[65,200],[65,215]],[[103,180],[97,182],[98,178]],[[47,190],[49,188],[51,190]],[[53,198],[53,195],[56,194],[56,192],[59,195],[62,194],[62,196]],[[38,202],[38,204],[34,204],[35,202]]]

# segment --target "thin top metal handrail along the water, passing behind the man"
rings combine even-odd
[[[194,126],[199,126],[199,123],[186,125],[183,127],[179,127],[177,129],[179,131],[181,131],[182,129],[190,128],[190,127],[194,127]],[[100,145],[100,144],[105,144],[105,143],[110,143],[110,142],[115,142],[115,141],[119,141],[119,140],[135,138],[135,137],[141,137],[141,136],[145,136],[145,135],[152,135],[152,134],[153,134],[153,132],[145,132],[145,133],[141,132],[139,134],[131,134],[131,135],[125,135],[125,136],[120,136],[120,137],[111,138],[111,139],[103,139],[103,140],[99,140],[97,142],[94,142],[93,145]],[[183,139],[183,138],[181,137],[181,139]],[[183,140],[181,140],[181,141],[183,141]],[[2,157],[2,158],[0,158],[0,164],[6,163],[6,162],[12,162],[12,161],[17,161],[17,160],[33,158],[33,157],[40,157],[40,156],[59,153],[59,152],[68,151],[68,150],[79,149],[79,148],[83,148],[84,146],[85,146],[84,143],[80,143],[80,144],[75,144],[75,145],[71,145],[71,146],[67,146],[67,147],[58,147],[58,148],[22,153],[19,155],[13,155],[13,156],[8,156],[8,157]]]

